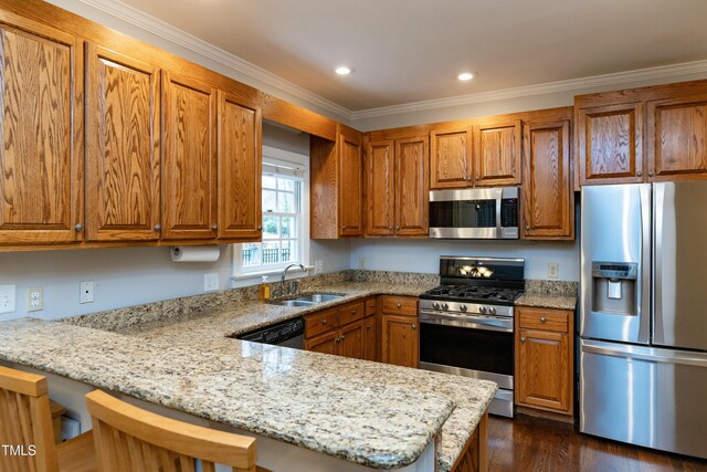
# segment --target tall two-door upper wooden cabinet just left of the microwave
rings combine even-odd
[[[428,235],[428,148],[426,136],[368,145],[366,235]]]

